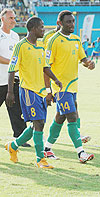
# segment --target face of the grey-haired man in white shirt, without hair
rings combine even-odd
[[[12,11],[7,12],[3,17],[3,25],[5,25],[8,29],[12,29],[15,27],[15,14]]]

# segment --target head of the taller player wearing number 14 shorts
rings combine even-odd
[[[62,30],[66,34],[74,32],[75,17],[69,10],[63,10],[58,14],[59,24],[62,26]]]

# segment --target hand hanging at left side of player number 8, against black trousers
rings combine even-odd
[[[6,104],[8,105],[8,107],[12,107],[14,103],[15,103],[14,93],[8,92],[6,95]]]

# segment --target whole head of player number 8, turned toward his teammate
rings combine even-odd
[[[26,23],[26,28],[28,32],[31,35],[34,34],[36,38],[42,38],[44,35],[44,23],[39,17],[33,16],[29,18]]]

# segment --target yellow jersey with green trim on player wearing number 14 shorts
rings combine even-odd
[[[52,72],[62,82],[63,91],[77,92],[78,62],[85,58],[85,52],[77,35],[55,33],[48,41],[46,48],[46,66],[51,65]],[[59,87],[51,81],[53,94]]]

